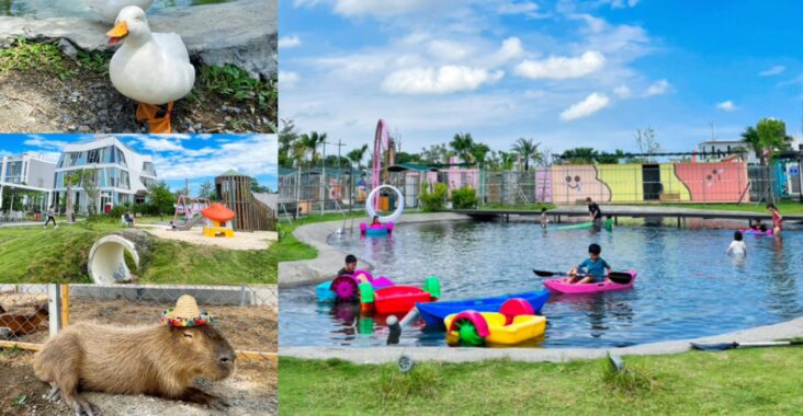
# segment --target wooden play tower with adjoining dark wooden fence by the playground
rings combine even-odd
[[[276,217],[269,206],[253,196],[251,181],[250,176],[234,170],[215,177],[217,200],[235,211],[235,230],[275,231]]]

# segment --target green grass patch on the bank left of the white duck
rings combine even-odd
[[[11,71],[42,71],[65,80],[75,76],[56,46],[56,42],[29,42],[16,38],[8,48],[0,49],[0,74]]]

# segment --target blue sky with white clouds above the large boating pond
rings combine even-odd
[[[280,117],[348,149],[378,118],[406,151],[459,131],[496,150],[664,150],[803,117],[803,3],[280,0]],[[329,151],[332,151],[332,148]]]

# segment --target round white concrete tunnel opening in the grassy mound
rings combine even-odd
[[[139,254],[134,243],[120,236],[106,235],[98,240],[89,251],[89,277],[101,285],[128,282],[132,280],[131,270],[125,264],[125,252],[134,258],[139,267]]]

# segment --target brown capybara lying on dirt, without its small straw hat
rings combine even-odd
[[[195,378],[223,380],[235,371],[235,351],[214,326],[124,328],[95,323],[66,327],[34,359],[34,372],[50,383],[49,398],[93,416],[84,391],[149,394],[206,404],[223,411],[220,397],[192,386]]]

